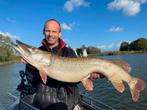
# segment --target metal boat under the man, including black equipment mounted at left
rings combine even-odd
[[[20,89],[28,89],[29,86],[26,84],[25,79],[25,72],[20,71],[20,77],[21,77],[21,83],[18,85],[17,90],[20,91]],[[24,87],[25,86],[25,87]],[[32,104],[32,95],[27,95],[27,92],[25,91],[20,92],[19,96],[15,96],[11,93],[8,93],[8,95],[11,97],[11,102],[3,108],[3,110],[39,110]],[[28,90],[27,90],[28,91]],[[86,92],[80,93],[81,96],[81,105],[82,110],[115,110],[111,106],[103,103],[100,100],[96,100],[88,95],[86,95]]]

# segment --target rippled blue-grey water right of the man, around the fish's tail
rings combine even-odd
[[[147,54],[104,56],[106,59],[127,61],[132,66],[131,75],[147,82]],[[90,93],[93,98],[111,105],[116,110],[147,110],[147,89],[141,92],[137,102],[132,102],[128,85],[123,94],[117,92],[112,84],[105,79],[95,81],[95,90]]]

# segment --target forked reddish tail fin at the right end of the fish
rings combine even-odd
[[[139,98],[139,94],[145,88],[145,82],[139,78],[133,77],[129,82],[129,87],[132,95],[132,100],[136,102]]]

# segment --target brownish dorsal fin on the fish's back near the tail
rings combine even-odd
[[[121,67],[122,69],[124,69],[126,72],[130,72],[131,71],[131,66],[130,64],[128,64],[125,61],[120,61],[120,60],[109,60],[111,63],[118,65],[119,67]]]

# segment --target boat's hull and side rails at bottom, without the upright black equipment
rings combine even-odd
[[[12,94],[9,94],[13,99],[3,110],[39,110],[34,107],[31,102],[31,97],[18,98]],[[81,94],[82,110],[115,110],[111,106],[101,102],[100,100],[95,100],[84,94]]]

